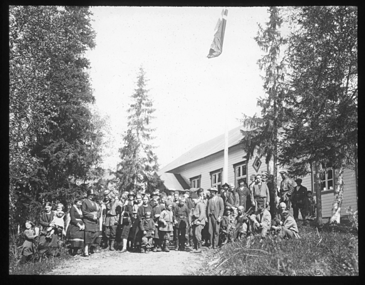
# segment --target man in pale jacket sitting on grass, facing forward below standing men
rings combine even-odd
[[[265,200],[256,199],[257,211],[249,217],[250,231],[252,234],[261,234],[261,238],[265,239],[266,234],[271,226],[271,214],[265,209]]]

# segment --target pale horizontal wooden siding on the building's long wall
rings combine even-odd
[[[169,173],[179,173],[184,180],[190,185],[190,178],[201,175],[200,187],[204,189],[208,189],[211,187],[211,177],[210,172],[214,170],[218,170],[223,168],[224,164],[224,153],[220,151],[217,154],[211,155],[210,157],[201,159],[196,162],[189,163],[184,166],[177,167],[169,171]],[[233,146],[228,149],[228,183],[234,183],[234,169],[233,165],[239,162],[244,161],[242,158],[245,153],[241,149],[241,146]],[[265,164],[265,158],[261,158],[261,166],[258,169],[258,172],[255,171],[252,164],[254,162],[256,155],[254,155],[253,159],[248,162],[247,165],[247,181],[250,181],[251,174],[260,173],[263,170],[269,171],[272,173],[272,162],[269,165]],[[280,171],[278,169],[278,171]],[[223,176],[222,176],[223,177]],[[345,186],[343,190],[343,203],[341,207],[341,216],[346,216],[346,208],[350,205],[353,209],[357,209],[356,203],[356,184],[355,184],[355,171],[350,169],[345,169],[343,174]],[[307,187],[308,190],[312,190],[312,183],[311,183],[311,175],[308,174],[305,177],[302,177],[302,185]],[[278,178],[278,188],[280,188],[281,177],[279,174]],[[296,184],[294,184],[296,185]],[[315,196],[314,196],[315,197]],[[323,194],[322,195],[322,217],[327,218],[331,216],[332,210],[332,203],[333,203],[334,195],[333,193]],[[291,209],[292,211],[292,209]],[[299,218],[301,215],[299,213]]]

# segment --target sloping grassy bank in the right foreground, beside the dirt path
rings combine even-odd
[[[243,241],[208,251],[199,275],[358,276],[358,236],[349,224],[318,232],[315,222],[298,221],[301,239],[284,239],[269,234],[246,247]]]

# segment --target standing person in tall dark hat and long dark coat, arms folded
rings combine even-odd
[[[96,244],[99,239],[101,208],[97,207],[95,202],[95,193],[93,189],[87,191],[87,199],[81,204],[82,220],[85,224],[85,248],[83,256],[89,256],[92,251],[90,247]]]

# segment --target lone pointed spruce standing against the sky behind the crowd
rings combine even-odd
[[[131,96],[133,103],[128,109],[128,130],[123,137],[124,146],[119,149],[121,162],[115,172],[115,182],[120,191],[147,191],[157,188],[160,179],[154,176],[158,170],[157,155],[154,146],[148,142],[154,137],[150,128],[153,102],[146,89],[145,71],[139,68],[137,88]]]

